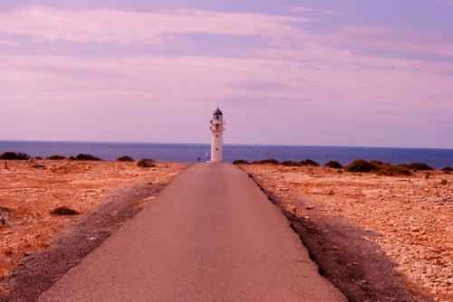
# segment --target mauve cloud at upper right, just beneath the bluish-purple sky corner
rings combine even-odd
[[[267,46],[259,52],[267,52],[268,55],[280,53],[287,60],[304,60],[307,53],[317,58],[343,58],[354,53],[372,54],[389,60],[453,60],[453,38],[419,30],[395,30],[378,26],[343,25],[323,33],[300,29],[292,37],[275,37]]]

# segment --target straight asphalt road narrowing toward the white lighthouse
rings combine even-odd
[[[346,301],[284,215],[228,164],[194,165],[44,301]]]

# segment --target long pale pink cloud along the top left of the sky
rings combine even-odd
[[[291,35],[296,33],[294,24],[306,21],[298,16],[204,10],[138,13],[30,6],[1,13],[0,33],[44,41],[159,43],[171,35],[184,33]]]

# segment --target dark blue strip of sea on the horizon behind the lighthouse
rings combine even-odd
[[[208,145],[198,144],[140,144],[140,143],[82,143],[0,141],[0,153],[24,152],[30,156],[75,156],[91,154],[104,160],[120,156],[135,159],[153,158],[158,161],[193,163],[206,161]],[[255,161],[274,158],[279,161],[312,159],[320,164],[336,160],[342,165],[355,159],[381,160],[392,164],[422,162],[436,168],[453,166],[452,149],[352,147],[352,146],[253,146],[226,145],[225,160]]]

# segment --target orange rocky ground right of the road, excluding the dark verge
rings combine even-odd
[[[453,175],[342,173],[321,167],[241,165],[288,211],[309,219],[313,206],[345,218],[376,239],[408,288],[453,301]],[[310,207],[302,200],[309,199]]]

